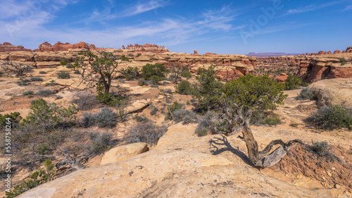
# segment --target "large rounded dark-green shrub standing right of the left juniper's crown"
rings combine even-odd
[[[142,77],[144,80],[151,80],[154,84],[165,80],[167,70],[162,64],[146,64],[142,68]]]

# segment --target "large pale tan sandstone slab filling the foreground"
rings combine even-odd
[[[260,173],[241,151],[194,135],[196,125],[172,125],[155,149],[118,163],[86,168],[46,182],[23,197],[334,197],[334,190],[306,189]],[[222,139],[220,135],[213,138]],[[231,138],[231,137],[229,137]],[[238,139],[238,138],[237,138]],[[231,144],[243,141],[231,139]],[[236,153],[234,155],[232,152]],[[228,154],[228,156],[227,156]],[[221,156],[223,155],[223,156]],[[229,159],[232,159],[230,161]],[[343,191],[342,191],[343,192]],[[335,192],[336,193],[336,192]]]

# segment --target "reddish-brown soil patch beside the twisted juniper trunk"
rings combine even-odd
[[[285,156],[272,166],[273,171],[282,171],[287,175],[305,175],[320,181],[327,188],[346,187],[352,192],[352,149],[333,146],[332,154],[341,161],[332,161],[313,153],[308,147],[297,145],[290,150],[291,156]]]

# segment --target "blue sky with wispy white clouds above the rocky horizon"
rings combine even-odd
[[[158,44],[199,54],[306,53],[352,45],[352,0],[1,0],[0,42],[36,49]]]

